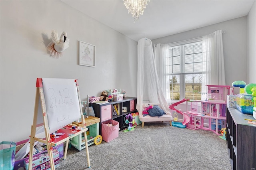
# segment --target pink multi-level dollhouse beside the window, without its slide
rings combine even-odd
[[[230,86],[207,85],[208,100],[190,100],[190,122],[187,128],[211,130],[221,135],[220,130],[226,127],[226,95]]]

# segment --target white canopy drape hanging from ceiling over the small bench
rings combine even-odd
[[[140,114],[142,113],[143,101],[159,103],[164,112],[171,115],[168,103],[164,98],[164,93],[158,79],[152,42],[147,38],[142,38],[138,41],[136,109]]]

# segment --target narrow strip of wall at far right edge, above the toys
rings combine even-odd
[[[256,83],[256,1],[247,16],[247,79],[246,83]]]

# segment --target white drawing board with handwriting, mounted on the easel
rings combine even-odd
[[[74,79],[42,78],[50,133],[81,118]]]

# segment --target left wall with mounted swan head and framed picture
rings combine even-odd
[[[29,137],[37,77],[78,79],[82,100],[113,88],[136,97],[134,40],[61,1],[0,1],[0,16],[0,141]],[[46,53],[52,29],[70,39],[60,59]],[[79,40],[96,46],[96,67],[78,65]]]

